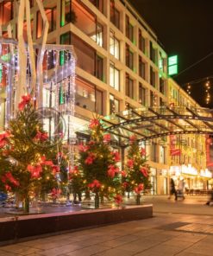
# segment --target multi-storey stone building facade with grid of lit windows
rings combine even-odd
[[[77,55],[75,129],[81,130],[94,114],[108,116],[141,106],[197,106],[197,103],[168,78],[167,54],[157,35],[126,0],[44,0],[49,30],[47,42],[72,44]],[[3,37],[7,25],[16,38],[18,1],[0,3]],[[41,42],[43,23],[35,0],[31,4],[31,29],[34,42]],[[25,31],[26,35],[26,31]],[[64,56],[60,56],[62,65]],[[53,68],[46,56],[47,69]],[[2,72],[3,74],[3,72]],[[5,104],[6,80],[0,76],[1,118]],[[45,94],[46,92],[44,92]],[[44,100],[47,97],[44,97]],[[45,104],[45,102],[44,102]],[[179,140],[179,155],[172,156],[171,144]],[[186,145],[183,146],[183,141]],[[147,143],[153,194],[167,194],[169,177],[186,173],[188,188],[206,189],[198,179],[206,169],[206,138],[203,135],[158,138]],[[182,166],[183,165],[183,166]],[[180,170],[181,167],[181,170]],[[179,170],[179,172],[176,170]],[[187,172],[187,171],[186,171]],[[196,175],[195,175],[196,174]],[[194,177],[193,176],[193,177]]]

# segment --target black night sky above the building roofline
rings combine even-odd
[[[213,0],[129,2],[153,29],[166,53],[179,55],[179,74],[173,77],[179,85],[186,88],[187,82],[212,76],[209,105],[205,104],[205,81],[191,85],[191,96],[202,106],[213,108]],[[210,53],[204,61],[185,70]]]

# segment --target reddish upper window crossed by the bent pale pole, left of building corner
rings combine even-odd
[[[56,6],[45,10],[47,21],[49,23],[48,33],[56,29]],[[40,38],[43,30],[43,20],[40,11],[37,12],[37,38]]]

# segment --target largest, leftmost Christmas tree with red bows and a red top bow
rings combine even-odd
[[[16,193],[26,213],[30,198],[57,187],[55,176],[60,171],[33,103],[30,95],[22,96],[16,118],[0,135],[0,190]]]

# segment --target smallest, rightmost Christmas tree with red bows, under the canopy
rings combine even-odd
[[[146,150],[139,147],[135,136],[130,138],[125,171],[122,173],[122,189],[136,193],[136,203],[140,204],[141,191],[150,188],[149,167]]]

